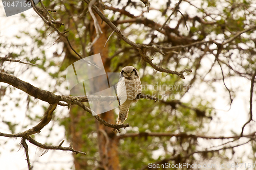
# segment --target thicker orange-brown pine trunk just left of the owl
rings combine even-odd
[[[109,27],[108,25],[106,25],[105,22],[101,21],[98,15],[96,15],[96,18],[99,22],[99,26],[103,33],[100,34],[99,39],[93,45],[93,53],[94,54],[100,53],[105,71],[110,72],[110,60],[108,59],[108,54],[109,54],[108,43],[104,47],[105,42],[108,39],[108,36],[110,34],[109,33],[110,31],[108,31]],[[91,27],[91,28],[94,29],[94,27]],[[93,37],[96,37],[95,29],[93,33],[94,33]],[[113,110],[102,113],[99,116],[102,119],[106,120],[106,122],[109,122],[111,124],[115,124],[116,122]],[[119,157],[118,157],[118,139],[116,138],[116,132],[114,132],[112,128],[106,127],[103,124],[99,123],[97,120],[96,120],[96,126],[97,126],[97,133],[98,133],[98,145],[99,145],[101,166],[103,167],[103,169],[108,169],[108,170],[120,169]]]

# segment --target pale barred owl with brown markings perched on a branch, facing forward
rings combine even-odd
[[[120,111],[117,125],[122,125],[127,119],[132,103],[138,102],[137,95],[141,93],[139,71],[133,66],[123,67],[117,83],[117,95],[120,103]]]

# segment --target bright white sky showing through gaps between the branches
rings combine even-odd
[[[138,0],[137,0],[138,1]],[[137,2],[136,1],[136,2]],[[140,1],[138,1],[139,3]],[[200,2],[200,1],[195,1]],[[165,4],[165,1],[163,1],[163,4]],[[172,2],[172,5],[174,6],[174,3]],[[159,3],[152,3],[152,7],[157,8],[159,6]],[[186,11],[187,13],[193,13],[193,9],[188,8],[187,3],[182,4],[182,11]],[[168,11],[172,12],[172,11]],[[134,14],[137,14],[138,11],[134,10]],[[28,22],[24,22],[24,20],[20,20],[19,15],[17,14],[15,16],[11,17],[6,17],[4,16],[4,8],[2,5],[2,2],[0,1],[0,43],[11,43],[13,41],[17,42],[20,41],[20,43],[27,42],[28,44],[31,44],[32,41],[30,39],[24,39],[21,38],[20,40],[14,39],[13,35],[17,35],[19,31],[30,31],[33,30],[33,28],[36,27],[41,27],[42,26],[42,20],[41,18],[35,14],[33,9],[30,9],[28,11],[25,11],[24,14],[28,17]],[[154,15],[157,15],[157,11],[151,10],[150,13],[144,14],[144,17],[147,17],[149,19],[154,18]],[[163,23],[164,21],[159,20],[158,23]],[[169,24],[170,27],[172,27],[172,23]],[[32,32],[35,34],[35,32]],[[9,38],[7,38],[9,37]],[[56,51],[58,46],[53,44],[53,41],[49,41],[49,44],[47,46],[47,57],[51,58],[52,57],[52,52]],[[6,49],[8,50],[8,49]],[[1,56],[1,52],[0,52]],[[3,56],[1,56],[3,57]],[[211,63],[212,63],[212,58],[210,56],[205,57],[203,59],[204,66],[208,68]],[[19,70],[20,63],[12,63],[9,65],[11,69],[16,69]],[[23,66],[23,65],[22,65]],[[31,67],[29,67],[31,69]],[[219,68],[217,68],[219,69]],[[45,85],[48,83],[54,84],[54,82],[51,82],[51,78],[47,75],[41,72],[39,69],[33,68],[32,69],[33,74],[36,74],[39,76],[40,81],[44,83],[38,83],[38,82],[33,82],[32,77],[30,76],[30,71],[25,72],[25,74],[17,76],[19,79],[22,79],[24,81],[29,82],[30,84],[40,87],[44,90],[49,90],[49,87]],[[200,70],[199,70],[200,71]],[[203,69],[201,69],[203,71]],[[17,74],[18,75],[18,74]],[[191,75],[187,76],[186,79],[184,80],[185,84],[189,82],[191,79]],[[213,116],[214,119],[210,122],[209,125],[206,126],[206,128],[209,128],[209,133],[208,135],[215,135],[215,136],[229,136],[232,135],[230,130],[239,133],[241,132],[241,128],[244,125],[245,122],[248,120],[248,113],[249,113],[249,92],[250,92],[250,81],[242,79],[242,78],[232,78],[232,79],[226,79],[226,85],[228,87],[236,87],[240,86],[243,87],[241,92],[237,93],[236,98],[234,99],[231,109],[229,109],[229,104],[228,99],[229,96],[227,95],[227,92],[221,83],[214,83],[214,86],[216,87],[217,91],[212,92],[211,90],[207,90],[207,87],[205,85],[200,85],[200,86],[194,86],[188,94],[186,94],[185,99],[189,100],[190,96],[193,95],[198,95],[201,96],[202,98],[216,98],[216,101],[214,102],[213,106],[216,109],[219,109],[217,112],[217,116]],[[142,82],[143,83],[143,82]],[[2,85],[2,83],[0,83]],[[3,83],[3,85],[6,85]],[[203,92],[202,92],[203,91]],[[19,95],[20,90],[16,90],[15,94]],[[68,95],[68,91],[65,90],[60,90],[59,91],[62,94]],[[254,92],[255,94],[255,92]],[[0,113],[0,121],[5,120],[12,120],[12,115],[16,115],[16,120],[15,122],[20,124],[20,125],[26,125],[27,120],[26,120],[26,95],[24,95],[23,99],[23,106],[20,107],[19,109],[13,107],[12,110],[8,110],[6,112],[1,112]],[[7,99],[7,98],[6,98]],[[255,97],[253,98],[254,104],[255,104]],[[3,105],[5,102],[5,98],[0,101],[0,107]],[[12,105],[12,102],[9,102],[10,105]],[[41,105],[47,106],[46,102],[41,102],[38,101],[37,107],[34,107],[32,110],[34,111],[35,114],[40,114],[43,113]],[[13,104],[14,106],[15,104]],[[56,116],[65,116],[68,115],[68,109],[66,107],[61,107],[58,106],[56,109]],[[2,111],[2,109],[0,110]],[[253,111],[255,111],[255,105],[253,106]],[[59,114],[61,112],[61,114]],[[33,116],[33,115],[32,115]],[[10,133],[8,130],[7,126],[3,126],[3,123],[0,123],[0,131],[3,133]],[[254,126],[252,126],[254,125]],[[3,126],[3,127],[2,127]],[[31,125],[33,127],[34,125]],[[18,126],[20,130],[22,130],[21,126]],[[49,138],[46,138],[44,136],[47,136],[49,134],[49,128],[53,127],[53,131],[51,132],[52,136]],[[30,128],[30,127],[27,127]],[[255,131],[255,123],[250,123],[249,125],[246,126],[244,134],[247,134],[249,132]],[[19,129],[16,129],[16,133],[20,132]],[[49,125],[47,125],[46,128],[42,129],[41,131],[41,136],[37,136],[37,141],[41,143],[45,142],[52,142],[54,145],[58,145],[63,139],[66,140],[65,138],[65,130],[63,127],[59,127],[58,125],[55,125],[53,122],[50,122]],[[5,143],[7,142],[7,143]],[[24,153],[24,150],[21,149],[19,150],[18,144],[20,142],[20,138],[14,139],[14,138],[7,138],[7,137],[0,137],[0,169],[28,169],[27,168],[27,161],[26,161],[26,156]],[[201,143],[201,147],[209,147],[209,145],[215,145],[217,142],[205,142],[205,140],[199,139],[199,142]],[[5,143],[5,144],[4,144]],[[40,155],[40,152],[38,154],[38,149],[35,147],[33,144],[30,144],[27,141],[29,145],[29,153],[30,153],[30,159],[32,165],[34,165],[34,169],[70,169],[73,165],[73,157],[71,152],[64,152],[64,151],[48,151],[45,155],[38,157]],[[65,141],[62,146],[68,147],[69,142]],[[10,152],[11,150],[14,150],[14,152]],[[236,152],[240,152],[243,154],[245,152],[243,161],[247,161],[247,156],[250,155],[250,148],[248,145],[244,145],[242,147],[234,149]],[[155,157],[158,158],[158,156],[161,154],[161,149],[159,151],[155,152]],[[244,162],[244,163],[245,163]],[[208,162],[211,163],[211,162]],[[214,162],[215,164],[219,164],[219,162]],[[200,164],[200,162],[198,162]],[[232,169],[232,168],[231,168]]]

